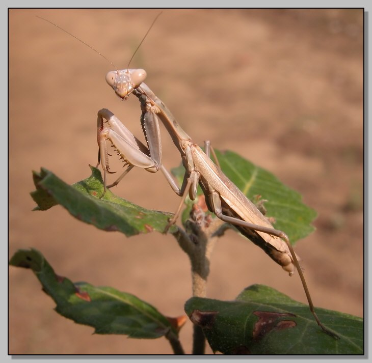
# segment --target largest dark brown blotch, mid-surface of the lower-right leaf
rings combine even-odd
[[[296,322],[293,320],[278,320],[281,317],[296,316],[294,314],[263,311],[255,311],[253,314],[259,317],[253,329],[255,341],[261,340],[265,334],[272,330],[283,330],[296,326]]]

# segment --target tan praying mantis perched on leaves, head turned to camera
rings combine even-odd
[[[121,158],[129,165],[123,175],[112,185],[116,185],[133,167],[139,166],[150,172],[161,170],[172,189],[181,196],[181,202],[165,232],[178,218],[183,202],[189,194],[195,200],[198,184],[201,186],[208,209],[218,218],[235,226],[244,236],[261,247],[275,262],[292,275],[297,269],[309,303],[309,308],[317,324],[330,336],[339,337],[326,328],[318,319],[311,300],[305,277],[287,235],[276,230],[255,205],[232,183],[209,157],[209,144],[206,153],[192,142],[177,123],[167,106],[155,96],[143,82],[146,72],[142,69],[125,69],[109,72],[106,80],[121,98],[133,93],[141,102],[141,124],[147,147],[128,131],[125,126],[107,109],[98,112],[98,145],[104,174],[109,171],[106,139],[109,139]],[[104,127],[103,119],[109,128]],[[173,143],[180,152],[185,174],[181,188],[178,188],[170,173],[162,165],[161,137],[158,119],[169,132]],[[104,177],[105,183],[105,177]],[[111,185],[110,185],[111,186]],[[109,187],[110,187],[109,186]]]

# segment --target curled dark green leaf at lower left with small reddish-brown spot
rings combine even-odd
[[[43,290],[56,302],[56,311],[78,324],[93,327],[97,334],[143,339],[178,336],[170,321],[147,302],[111,287],[72,283],[56,275],[36,249],[18,250],[9,264],[31,268]]]

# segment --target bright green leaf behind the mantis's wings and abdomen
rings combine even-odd
[[[301,194],[282,184],[273,174],[261,169],[240,155],[231,151],[216,151],[221,170],[242,192],[256,204],[254,196],[261,196],[267,217],[274,217],[273,226],[284,231],[292,244],[306,237],[314,227],[311,222],[316,217],[316,212],[304,205]],[[179,166],[172,169],[178,180],[182,180],[184,169]],[[202,191],[198,189],[198,195]],[[187,199],[187,209],[182,214],[183,223],[189,217],[191,201]]]

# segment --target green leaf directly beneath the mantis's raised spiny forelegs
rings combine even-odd
[[[34,172],[36,191],[31,196],[37,203],[34,210],[46,210],[57,204],[86,223],[105,231],[120,231],[126,236],[139,233],[163,232],[171,213],[142,208],[115,196],[110,190],[103,194],[103,182],[98,169],[91,166],[92,175],[68,185],[56,175],[41,168]],[[172,226],[170,232],[177,231]]]

